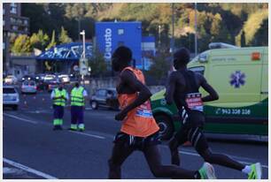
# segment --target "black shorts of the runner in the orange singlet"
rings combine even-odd
[[[159,132],[153,133],[147,137],[132,136],[127,133],[117,133],[113,142],[115,144],[124,145],[127,148],[133,148],[135,150],[143,150],[151,145],[158,145],[160,141]]]

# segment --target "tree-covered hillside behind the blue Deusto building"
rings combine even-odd
[[[193,52],[194,4],[174,4],[174,14],[175,47],[186,46]],[[155,35],[157,42],[160,37],[159,49],[168,49],[172,36],[171,4],[24,3],[22,16],[30,19],[29,39],[33,34],[39,34],[40,49],[48,49],[59,42],[78,41],[79,29],[85,29],[86,38],[91,40],[95,36],[96,21],[142,21],[143,34]],[[209,42],[227,42],[242,46],[267,45],[267,27],[268,4],[197,4],[199,52],[207,49]],[[44,35],[40,30],[43,30]],[[63,37],[63,34],[66,37]],[[42,37],[44,40],[41,40]],[[35,39],[36,45],[37,38],[32,39]],[[15,43],[15,40],[12,43]],[[29,44],[24,49],[31,50],[35,47],[31,42]]]

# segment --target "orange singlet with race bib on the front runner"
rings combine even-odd
[[[134,72],[136,79],[145,84],[143,72],[130,66],[123,71],[125,70]],[[118,95],[120,109],[123,110],[128,104],[134,102],[137,95],[138,93]],[[122,121],[120,131],[138,137],[147,137],[159,131],[159,125],[152,116],[150,100],[128,112],[128,116]]]

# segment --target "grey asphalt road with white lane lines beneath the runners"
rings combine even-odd
[[[19,110],[4,109],[4,178],[105,179],[107,160],[120,122],[116,111],[85,110],[84,133],[66,130],[70,111],[66,108],[63,131],[52,131],[50,95],[21,95]],[[267,143],[211,140],[213,152],[228,154],[241,163],[260,162],[268,178]],[[162,161],[170,163],[166,143],[159,146]],[[190,147],[179,148],[182,167],[197,170],[203,163]],[[218,178],[246,178],[240,171],[214,165]],[[141,152],[134,152],[122,166],[122,178],[154,178]]]

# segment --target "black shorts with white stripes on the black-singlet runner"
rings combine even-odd
[[[188,113],[185,122],[182,123],[181,129],[174,135],[175,140],[178,140],[179,145],[190,141],[198,153],[204,152],[209,148],[205,135],[202,132],[204,124],[204,113],[200,111]]]

